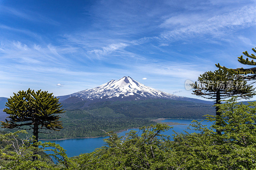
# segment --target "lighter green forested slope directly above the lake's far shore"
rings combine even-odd
[[[112,115],[113,114],[113,115]],[[63,129],[50,134],[40,134],[41,139],[104,136],[104,131],[119,131],[128,128],[149,126],[156,122],[148,119],[127,117],[108,107],[93,110],[66,111],[61,115]]]

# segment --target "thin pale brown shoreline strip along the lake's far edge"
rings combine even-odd
[[[187,125],[187,124],[182,124],[182,123],[177,123],[177,122],[160,122],[165,119],[179,119],[179,118],[158,118],[158,119],[152,119],[151,121],[157,122],[157,123],[162,123],[162,124],[167,124],[168,126],[172,125]],[[203,120],[203,119],[185,119],[185,120]],[[128,131],[129,129],[139,129],[140,127],[136,128],[128,128],[128,129],[123,129],[116,131],[115,133],[121,133],[124,131]],[[71,138],[61,138],[61,139],[38,139],[41,141],[52,141],[52,140],[66,140],[66,139],[89,139],[89,138],[98,138],[98,137],[105,137],[105,136],[97,136],[97,137],[71,137]]]

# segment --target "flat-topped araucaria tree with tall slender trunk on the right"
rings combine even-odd
[[[252,85],[239,78],[236,75],[230,75],[227,70],[208,71],[198,77],[198,83],[192,84],[192,94],[206,99],[212,99],[216,104],[221,104],[220,100],[237,96],[238,98],[249,99],[256,93]],[[218,116],[220,116],[219,107],[216,106],[216,124],[219,125]],[[221,134],[219,130],[216,130]]]

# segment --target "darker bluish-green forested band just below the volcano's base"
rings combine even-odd
[[[103,101],[92,103],[88,106],[84,101],[74,101],[73,103],[66,103],[63,101],[62,104],[66,110],[93,110],[96,108],[110,108],[115,113],[136,118],[164,117],[202,119],[203,115],[214,114],[214,107],[212,107],[210,104],[169,99]]]

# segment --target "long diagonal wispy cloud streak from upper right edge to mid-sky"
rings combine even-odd
[[[107,55],[120,48],[124,49],[129,46],[136,46],[150,41],[165,41],[160,43],[159,47],[171,46],[174,41],[189,39],[198,36],[211,35],[215,38],[223,38],[223,35],[237,30],[256,26],[256,7],[244,6],[237,11],[229,11],[215,16],[202,16],[202,14],[180,14],[166,19],[160,27],[165,31],[157,36],[143,37],[129,42],[118,42],[110,44],[101,49],[93,49],[89,53],[97,55]],[[179,25],[179,26],[177,26]],[[178,27],[178,28],[175,28]],[[168,29],[172,29],[171,31]],[[184,42],[183,42],[184,44]]]

